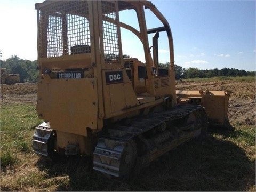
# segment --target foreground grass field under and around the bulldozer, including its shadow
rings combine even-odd
[[[235,132],[210,130],[158,158],[130,180],[92,172],[89,157],[58,163],[31,147],[34,104],[1,106],[1,191],[255,191],[255,126],[232,122]]]

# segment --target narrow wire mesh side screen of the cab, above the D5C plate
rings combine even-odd
[[[102,2],[102,14],[116,20],[115,3]],[[117,25],[103,20],[103,47],[106,59],[119,57]]]

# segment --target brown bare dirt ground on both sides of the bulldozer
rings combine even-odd
[[[240,121],[244,124],[255,125],[255,82],[243,81],[217,81],[217,82],[186,82],[177,81],[177,90],[203,90],[232,91],[229,98],[228,117],[232,124]],[[19,83],[16,85],[1,85],[1,103],[24,103],[37,100],[36,83]]]

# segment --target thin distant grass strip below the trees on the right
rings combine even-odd
[[[246,82],[255,82],[255,76],[241,76],[241,77],[212,77],[212,78],[189,78],[189,79],[182,79],[183,82],[211,82],[211,81],[246,81]]]

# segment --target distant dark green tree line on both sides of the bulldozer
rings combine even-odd
[[[125,58],[129,56],[125,55]],[[159,63],[159,67],[167,69],[169,63]],[[9,59],[0,60],[0,67],[6,68],[7,73],[18,73],[20,74],[20,82],[37,82],[38,81],[38,69],[37,60],[23,60],[17,57],[17,55],[11,56]],[[198,68],[190,67],[185,69],[181,66],[175,65],[175,78],[186,79],[186,78],[211,78],[218,76],[255,76],[255,71],[238,70],[234,68],[223,68],[223,69],[206,69],[201,70]]]

